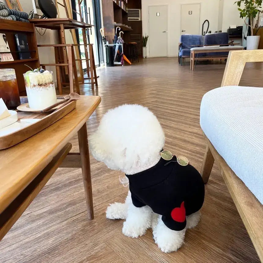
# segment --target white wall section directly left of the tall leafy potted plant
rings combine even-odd
[[[222,31],[226,32],[230,25],[243,26],[244,20],[240,18],[235,0],[224,0]]]

